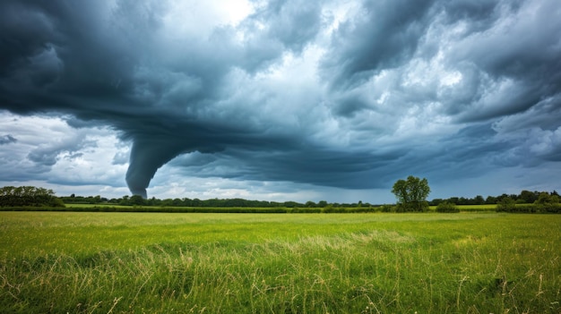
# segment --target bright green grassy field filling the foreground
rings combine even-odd
[[[561,216],[0,212],[5,313],[560,313]]]

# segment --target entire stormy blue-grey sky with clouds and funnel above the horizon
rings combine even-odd
[[[0,53],[0,186],[561,191],[558,0],[8,0]]]

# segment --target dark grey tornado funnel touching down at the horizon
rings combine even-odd
[[[157,139],[136,139],[133,142],[126,184],[133,195],[148,197],[146,189],[158,169],[179,155],[183,149],[177,142]]]

